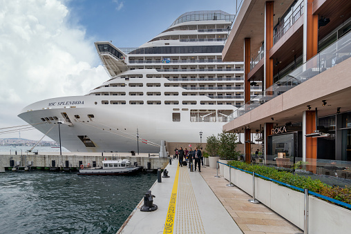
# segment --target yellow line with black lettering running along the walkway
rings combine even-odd
[[[171,199],[167,211],[166,223],[164,224],[163,233],[173,233],[174,217],[176,215],[176,202],[178,191],[179,165],[177,167],[176,177],[174,178]]]

